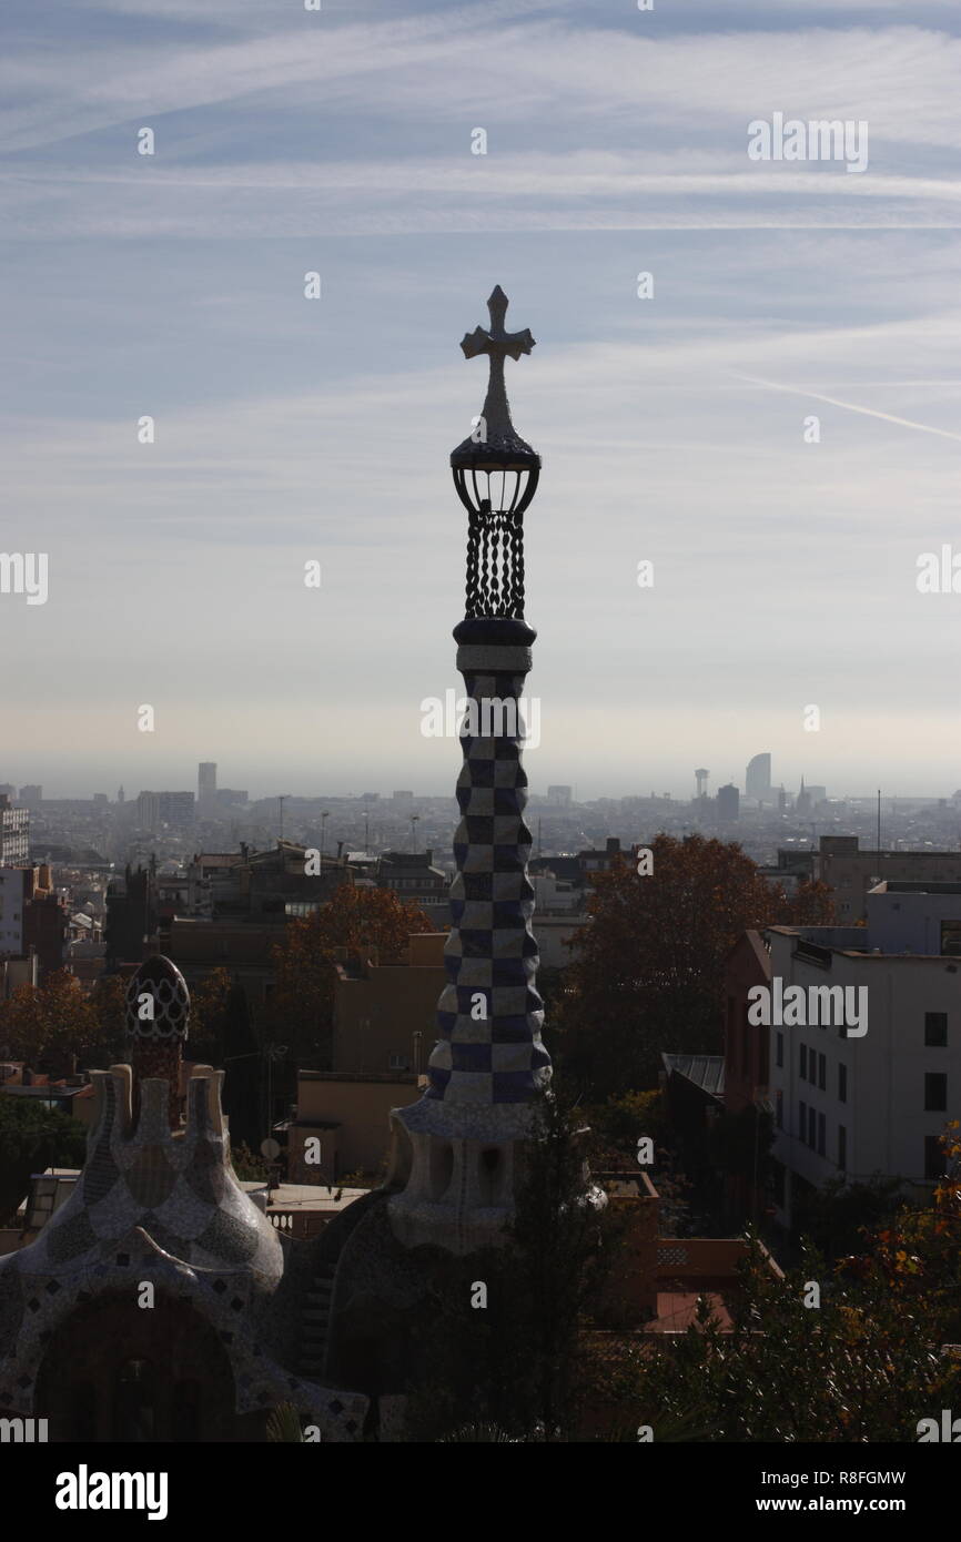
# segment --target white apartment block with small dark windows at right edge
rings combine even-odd
[[[901,1177],[922,1195],[944,1172],[938,1136],[961,1115],[961,884],[878,884],[867,927],[773,927],[771,985],[850,987],[848,1024],[770,1025],[777,1218],[804,1184]],[[865,995],[858,996],[861,987]],[[841,1005],[835,992],[836,1005]],[[824,998],[822,998],[824,999]],[[782,1013],[788,1018],[788,1013]],[[819,1013],[825,1016],[825,1013]]]

